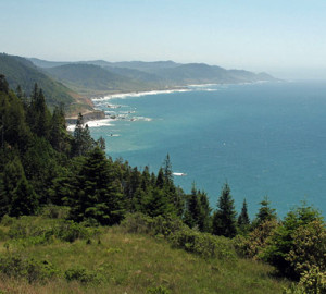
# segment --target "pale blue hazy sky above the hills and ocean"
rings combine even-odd
[[[0,0],[0,52],[326,79],[326,0]]]

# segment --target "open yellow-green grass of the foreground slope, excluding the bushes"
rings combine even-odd
[[[25,217],[28,228],[51,226],[58,220]],[[145,234],[127,233],[123,226],[101,228],[101,233],[74,243],[57,238],[45,245],[27,240],[3,237],[10,226],[0,225],[0,255],[20,253],[36,260],[48,260],[63,273],[84,267],[104,277],[101,283],[83,285],[57,278],[46,284],[28,284],[0,275],[3,293],[146,293],[150,287],[164,286],[170,293],[281,293],[286,282],[272,278],[273,268],[244,259],[203,259],[181,249],[172,248],[165,240]],[[1,236],[1,234],[0,234]],[[100,244],[98,241],[101,241]],[[9,244],[4,246],[4,243]],[[59,274],[62,277],[63,274]],[[0,293],[1,293],[0,291]]]

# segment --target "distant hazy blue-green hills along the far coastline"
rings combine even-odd
[[[204,63],[181,64],[173,61],[104,60],[79,62],[51,62],[30,59],[67,87],[85,95],[105,95],[186,87],[190,84],[237,84],[275,81],[268,74],[243,70],[225,70]]]

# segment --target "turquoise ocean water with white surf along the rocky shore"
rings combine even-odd
[[[187,173],[175,182],[189,192],[195,181],[213,207],[227,181],[237,210],[246,197],[252,217],[265,195],[280,217],[301,200],[326,212],[326,83],[193,86],[95,102],[120,118],[90,128],[109,156],[156,172],[168,152],[173,171]]]

